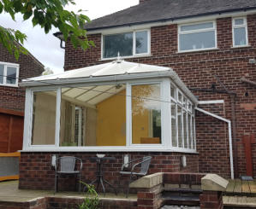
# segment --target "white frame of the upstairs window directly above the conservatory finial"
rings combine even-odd
[[[115,34],[123,34],[123,33],[133,33],[133,55],[122,56],[122,58],[131,58],[131,57],[140,57],[140,56],[147,56],[151,54],[151,30],[150,29],[141,29],[141,30],[134,30],[134,31],[127,31],[127,32],[113,32],[113,33],[106,33],[101,35],[101,60],[116,60],[116,57],[104,57],[104,36],[108,35],[115,35]],[[136,54],[136,32],[147,32],[147,52],[146,53],[139,53]]]

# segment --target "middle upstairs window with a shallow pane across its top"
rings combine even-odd
[[[216,49],[216,23],[203,22],[179,26],[179,51]]]

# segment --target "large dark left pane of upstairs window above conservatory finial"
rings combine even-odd
[[[133,55],[133,33],[104,36],[104,58]]]

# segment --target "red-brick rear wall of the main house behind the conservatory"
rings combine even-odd
[[[238,175],[246,173],[242,136],[256,133],[256,90],[249,84],[241,83],[241,77],[256,80],[256,65],[249,59],[256,58],[256,15],[247,15],[249,47],[232,48],[232,19],[217,19],[217,48],[200,52],[177,53],[177,25],[156,26],[151,29],[151,54],[147,57],[126,59],[146,64],[172,67],[187,84],[188,88],[210,89],[217,84],[217,90],[223,90],[214,75],[230,90],[235,92],[235,116],[238,154]],[[102,64],[100,61],[101,34],[90,35],[96,44],[86,52],[75,50],[67,42],[65,50],[65,70]],[[247,93],[247,94],[246,94]],[[220,113],[231,119],[230,98],[226,94],[193,90],[202,100],[223,99]],[[214,111],[214,110],[213,110]],[[218,113],[218,112],[217,112]],[[229,139],[227,125],[204,114],[198,113],[196,119],[197,146],[199,151],[199,171],[217,172],[223,177],[229,176]],[[256,145],[253,145],[253,161],[256,161]],[[253,165],[256,175],[256,163]]]

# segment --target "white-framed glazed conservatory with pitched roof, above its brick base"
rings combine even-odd
[[[196,152],[197,99],[170,67],[118,59],[21,85],[24,151]]]

